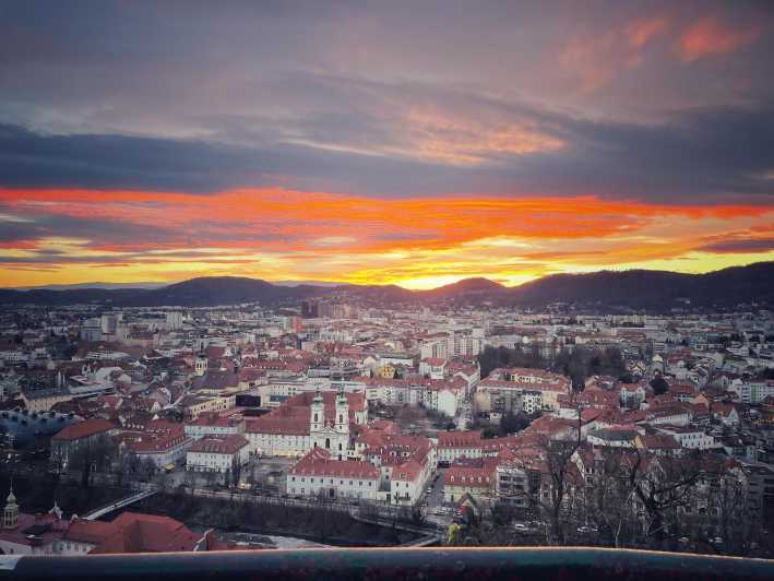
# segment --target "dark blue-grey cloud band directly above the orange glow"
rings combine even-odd
[[[523,115],[520,110],[519,115]],[[454,193],[577,195],[663,203],[769,203],[774,193],[774,107],[675,112],[658,124],[590,121],[535,110],[561,150],[489,154],[474,166],[278,143],[41,135],[0,127],[0,185],[215,192],[281,182],[300,190],[406,197]],[[342,147],[338,120],[330,121]],[[377,134],[385,131],[377,119]],[[368,140],[364,123],[360,142]],[[337,132],[337,133],[336,133]],[[376,138],[374,138],[376,139]]]

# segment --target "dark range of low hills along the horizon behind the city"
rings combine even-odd
[[[43,306],[98,303],[118,307],[210,307],[241,303],[290,304],[310,297],[372,305],[442,301],[538,308],[565,303],[579,309],[668,310],[677,306],[733,307],[751,303],[774,306],[774,262],[707,274],[647,270],[555,274],[512,288],[487,278],[466,278],[430,290],[408,290],[397,285],[283,286],[259,278],[205,276],[150,289],[0,289],[0,304]]]

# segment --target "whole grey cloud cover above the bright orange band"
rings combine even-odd
[[[760,34],[684,62],[705,16]],[[0,186],[770,203],[773,33],[770,3],[715,0],[3,2]],[[512,127],[565,145],[481,151]]]

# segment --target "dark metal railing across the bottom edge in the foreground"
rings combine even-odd
[[[774,561],[600,548],[414,548],[0,556],[0,579],[774,579]]]

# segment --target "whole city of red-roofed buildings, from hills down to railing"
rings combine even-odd
[[[767,305],[517,308],[483,281],[216,305],[245,281],[207,282],[180,286],[209,307],[3,309],[4,554],[772,555]]]

